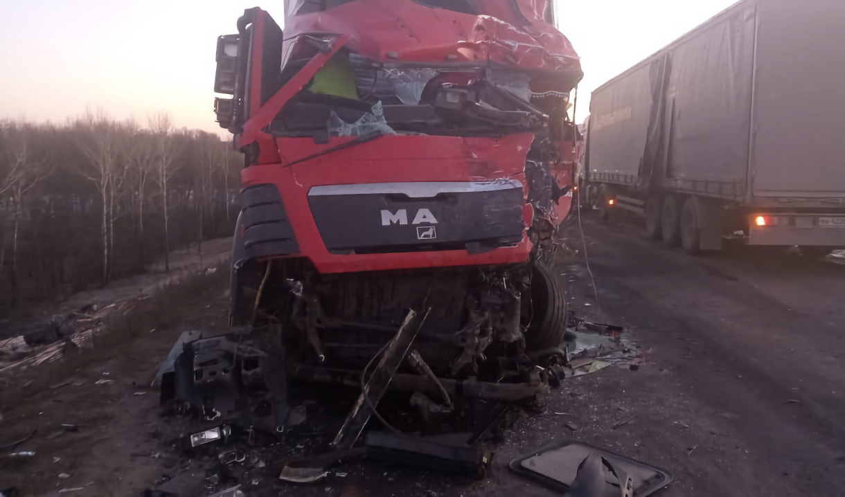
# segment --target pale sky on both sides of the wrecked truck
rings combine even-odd
[[[599,85],[734,0],[558,0],[581,55],[578,121]],[[215,40],[258,5],[282,0],[0,0],[0,118],[63,122],[86,107],[118,119],[168,111],[177,127],[221,132],[213,112]]]

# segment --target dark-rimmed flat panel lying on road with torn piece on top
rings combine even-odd
[[[672,482],[665,469],[574,440],[554,442],[519,456],[510,462],[510,469],[567,497],[620,492],[645,497]]]

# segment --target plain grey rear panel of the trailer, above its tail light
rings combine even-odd
[[[845,203],[843,19],[842,0],[760,0],[755,205]]]

